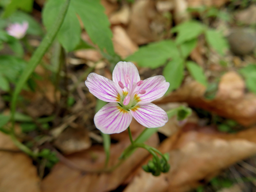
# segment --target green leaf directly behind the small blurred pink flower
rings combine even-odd
[[[18,22],[22,23],[24,21],[28,22],[28,30],[27,34],[32,34],[32,35],[43,35],[43,29],[40,26],[40,24],[29,14],[26,14],[22,11],[16,11],[14,12],[9,18],[10,22]]]

